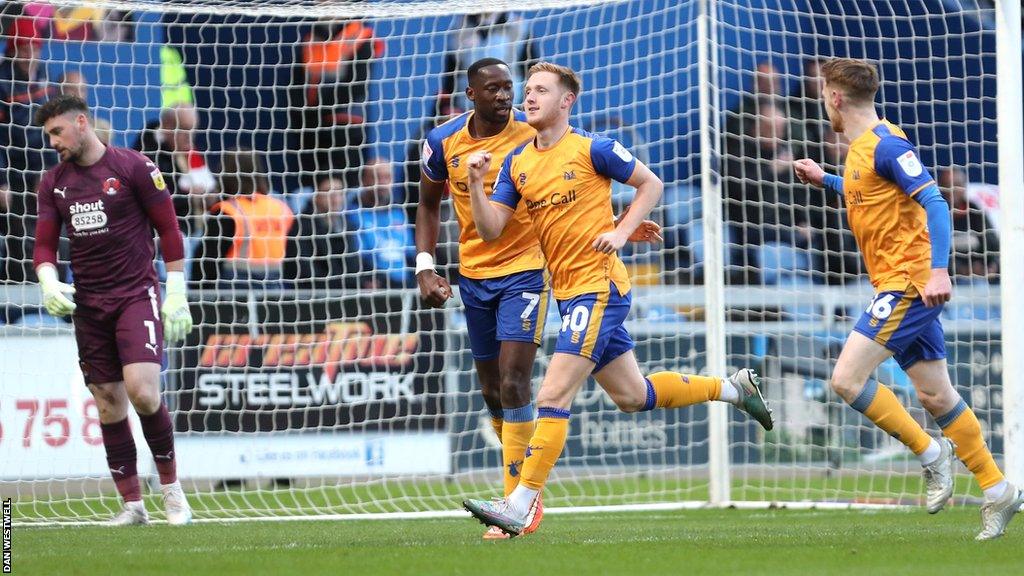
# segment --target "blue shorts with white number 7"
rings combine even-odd
[[[548,316],[548,285],[543,270],[499,278],[463,277],[459,293],[466,307],[466,329],[473,360],[494,360],[503,341],[541,345]]]

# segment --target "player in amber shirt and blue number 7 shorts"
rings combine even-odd
[[[466,96],[473,110],[427,133],[423,142],[420,205],[416,212],[416,280],[424,301],[440,306],[452,296],[447,281],[434,272],[434,249],[445,188],[459,220],[460,295],[476,376],[490,423],[502,443],[505,493],[519,482],[526,443],[534,435],[530,376],[548,311],[544,256],[527,225],[509,227],[500,242],[484,242],[469,205],[466,160],[479,150],[508,154],[536,133],[522,112],[512,108],[512,73],[504,61],[481,58],[467,71]],[[498,166],[486,175],[494,187]],[[526,209],[515,216],[527,222]],[[526,532],[543,517],[538,502]],[[508,536],[488,529],[485,539]]]

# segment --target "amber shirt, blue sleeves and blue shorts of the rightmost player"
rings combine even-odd
[[[880,120],[850,142],[843,177],[825,187],[846,199],[850,230],[876,295],[854,330],[893,352],[906,369],[945,358],[939,315],[921,294],[949,261],[949,207],[898,126]]]

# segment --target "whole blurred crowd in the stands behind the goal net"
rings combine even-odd
[[[8,3],[0,61],[0,282],[32,282],[34,187],[56,163],[36,108],[55,93],[97,105],[81,72],[46,76],[41,46],[50,40],[131,41],[129,13],[99,8],[53,8],[47,2]],[[309,26],[294,54],[289,147],[300,159],[301,192],[271,191],[264,153],[238,148],[208,154],[197,148],[200,115],[185,66],[171,46],[161,51],[163,110],[132,146],[164,174],[188,245],[189,280],[203,288],[248,286],[354,289],[414,286],[414,235],[420,139],[465,112],[465,70],[497,56],[513,64],[521,87],[539,43],[512,13],[470,14],[451,33],[445,73],[431,118],[414,135],[407,158],[369,154],[369,82],[385,49],[357,19]],[[819,61],[805,63],[803,80],[787,86],[771,61],[754,71],[751,91],[725,117],[721,142],[725,197],[727,282],[732,284],[849,284],[862,264],[844,221],[842,199],[802,186],[792,162],[812,158],[838,172],[847,146],[831,131],[820,102]],[[521,89],[521,88],[517,88]],[[521,97],[521,94],[517,94]],[[110,138],[110,123],[96,119]],[[396,182],[396,176],[399,181]],[[937,170],[953,214],[957,278],[998,281],[998,239],[986,210],[969,193],[959,167]],[[700,282],[702,244],[698,191],[667,182],[664,257],[655,279]],[[454,227],[454,218],[446,221]],[[457,270],[457,234],[442,230],[438,263]],[[631,257],[627,254],[627,261]],[[67,274],[67,271],[65,271]],[[457,279],[453,278],[453,282]]]

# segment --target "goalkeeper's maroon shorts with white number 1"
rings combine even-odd
[[[156,287],[133,298],[90,297],[77,302],[74,321],[79,366],[87,384],[120,382],[124,366],[163,360],[164,327]]]

